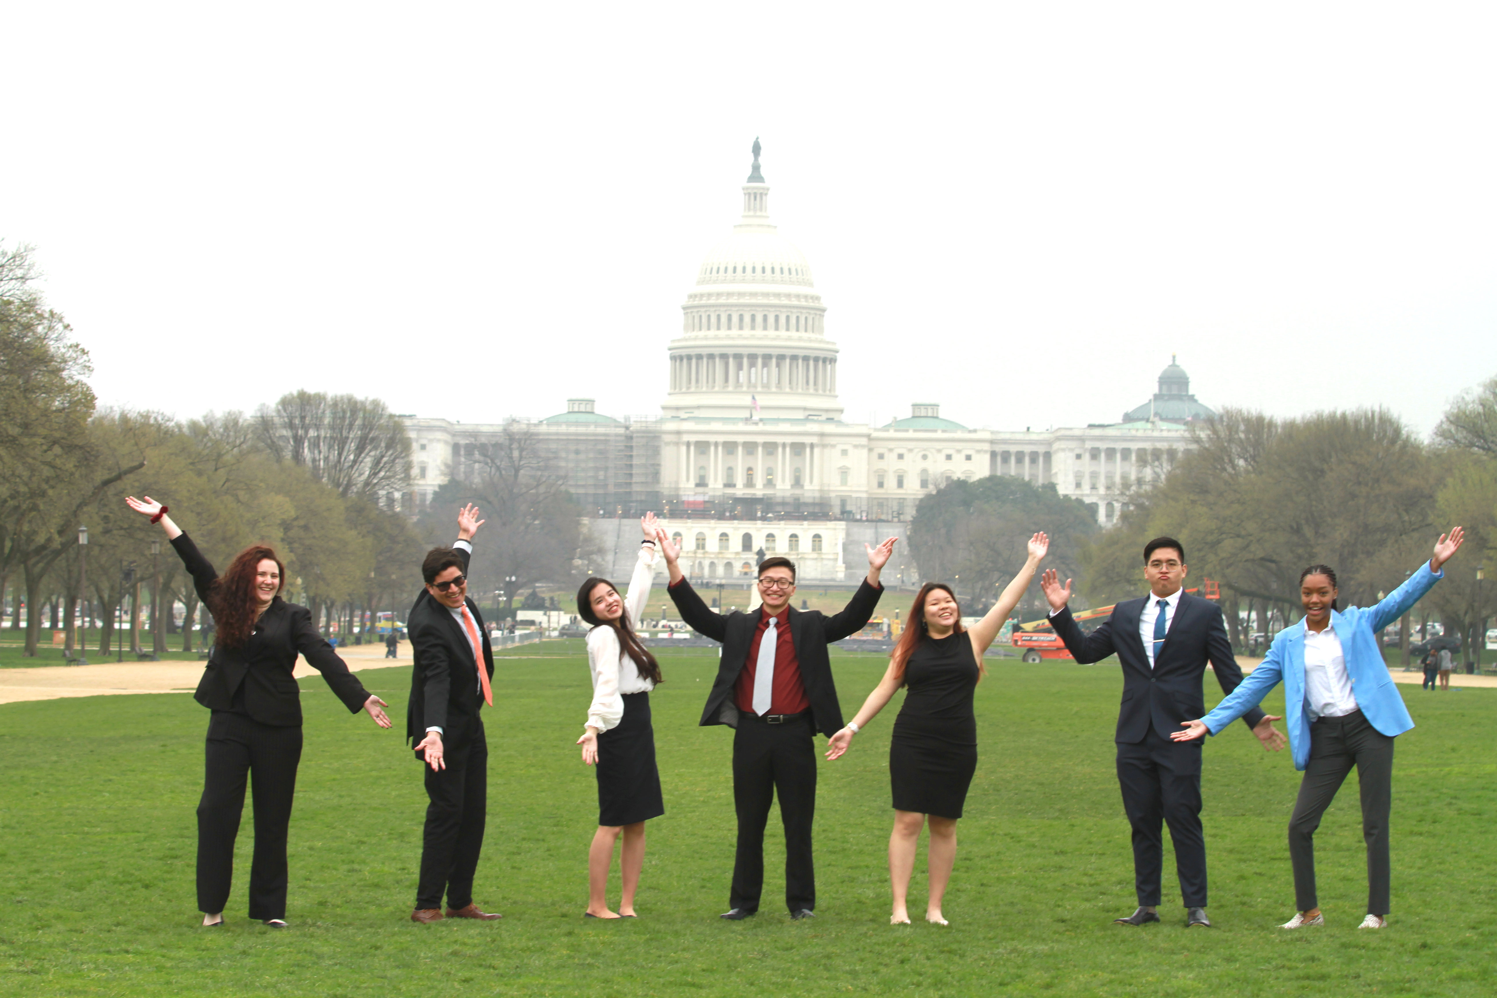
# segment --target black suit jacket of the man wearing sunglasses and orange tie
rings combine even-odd
[[[469,552],[463,548],[457,548],[457,552],[463,558],[463,573],[467,575]],[[488,643],[484,618],[472,599],[467,607],[484,642],[484,667],[493,678],[494,649]],[[427,736],[428,727],[440,727],[442,745],[448,754],[464,753],[478,730],[478,714],[484,709],[473,645],[463,633],[463,625],[452,616],[452,610],[434,600],[425,588],[410,607],[406,630],[416,660],[410,670],[406,738],[416,745]],[[422,754],[416,753],[416,759],[422,759]]]

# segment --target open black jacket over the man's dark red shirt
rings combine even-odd
[[[748,645],[753,642],[754,628],[759,627],[759,610],[753,613],[734,610],[723,616],[708,607],[686,579],[672,585],[669,593],[687,627],[723,643],[717,679],[713,681],[713,691],[702,711],[702,726],[738,727],[734,684],[738,682],[738,673],[748,661]],[[861,631],[868,618],[873,616],[873,609],[879,606],[880,596],[883,596],[883,587],[868,585],[868,581],[864,579],[843,612],[835,616],[826,616],[820,610],[790,607],[790,640],[795,643],[795,658],[801,666],[801,684],[805,687],[805,699],[811,702],[811,718],[816,721],[816,730],[828,738],[841,730],[843,720],[826,645]]]

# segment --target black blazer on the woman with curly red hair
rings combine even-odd
[[[219,578],[198,545],[187,534],[172,539],[172,548],[187,566],[198,599],[213,606],[213,584]],[[213,657],[202,672],[202,681],[195,694],[198,703],[210,711],[232,711],[234,694],[244,685],[244,709],[260,724],[295,727],[301,724],[301,687],[292,678],[296,654],[307,658],[313,669],[332,687],[350,712],[358,712],[370,699],[364,684],[349,672],[332,646],[317,633],[311,622],[311,610],[287,603],[278,596],[271,601],[254,633],[243,648],[213,646]]]

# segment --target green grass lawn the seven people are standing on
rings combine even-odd
[[[588,702],[578,643],[503,657],[487,712],[490,814],[476,899],[499,923],[407,920],[421,851],[421,772],[395,732],[307,687],[290,835],[289,931],[246,919],[250,815],[223,929],[198,928],[195,817],[208,715],[187,694],[0,706],[0,994],[4,995],[1488,995],[1497,959],[1493,818],[1497,691],[1406,688],[1391,928],[1359,932],[1367,881],[1355,784],[1317,836],[1329,925],[1286,934],[1284,823],[1298,778],[1237,726],[1207,747],[1216,929],[1130,929],[1129,829],[1112,768],[1115,669],[990,663],[981,762],[960,826],[949,928],[889,926],[885,848],[891,709],[823,763],[817,917],[777,904],[728,923],[731,732],[696,718],[717,658],[668,652],[654,697],[663,818],[650,824],[638,922],[584,922],[596,784],[573,747]],[[883,661],[834,655],[843,706]],[[364,673],[403,715],[409,672]],[[1208,690],[1208,702],[1216,696]],[[1274,708],[1277,705],[1265,705]],[[924,847],[922,847],[924,851]],[[1172,857],[1166,856],[1166,871]],[[922,911],[924,866],[912,908]],[[617,902],[617,887],[611,893]]]

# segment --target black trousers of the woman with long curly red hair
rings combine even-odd
[[[253,778],[254,860],[250,917],[286,917],[286,830],[296,795],[301,726],[260,724],[246,714],[214,711],[198,802],[198,910],[223,911],[234,881],[234,839],[244,815],[244,784]]]

